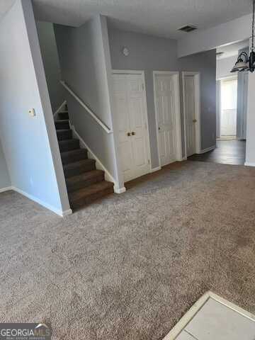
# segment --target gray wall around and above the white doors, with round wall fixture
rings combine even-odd
[[[112,28],[109,29],[109,42],[113,69],[140,69],[145,71],[152,167],[158,166],[153,70],[200,72],[202,149],[215,145],[215,50],[178,59],[176,40],[130,33]],[[122,53],[123,46],[127,46],[130,50],[128,57],[125,57]],[[181,77],[180,95],[182,98]],[[183,120],[182,100],[181,118]],[[182,138],[184,138],[183,133]]]

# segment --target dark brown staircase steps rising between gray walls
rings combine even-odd
[[[104,171],[96,169],[95,159],[89,159],[88,151],[81,149],[79,140],[73,138],[67,106],[58,113],[55,127],[71,208],[80,208],[113,193],[113,183],[105,181]]]

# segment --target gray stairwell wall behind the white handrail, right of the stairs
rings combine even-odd
[[[95,16],[79,28],[55,25],[55,35],[64,81],[111,128],[111,60],[106,18]],[[67,103],[75,129],[118,181],[113,134],[107,134],[68,92]]]

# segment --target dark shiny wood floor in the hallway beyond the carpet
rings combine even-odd
[[[205,154],[193,154],[188,160],[244,165],[245,144],[245,140],[217,140],[216,149]]]

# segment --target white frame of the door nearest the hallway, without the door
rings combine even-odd
[[[182,72],[182,83],[183,83],[183,122],[184,122],[184,140],[185,140],[185,158],[187,159],[187,147],[186,147],[186,111],[185,111],[185,86],[184,77],[194,76],[195,84],[195,115],[196,115],[196,153],[200,154],[202,152],[201,147],[201,118],[200,118],[200,72]]]

